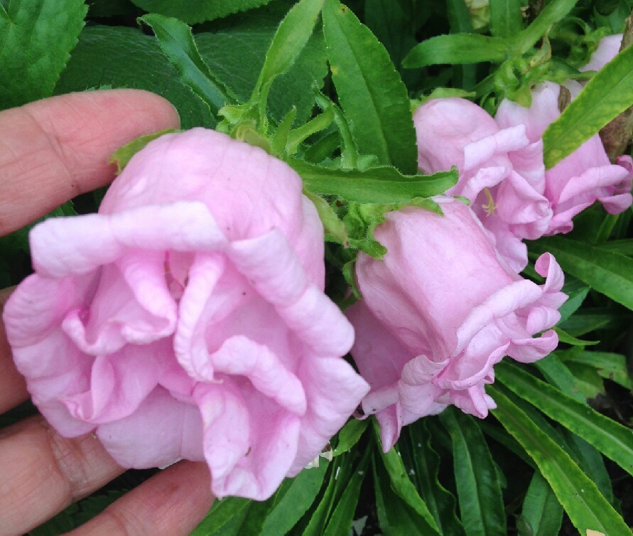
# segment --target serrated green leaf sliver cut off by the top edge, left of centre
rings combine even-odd
[[[268,4],[271,0],[131,0],[145,11],[160,13],[179,18],[188,24],[198,24],[232,15],[238,11],[245,11]]]

